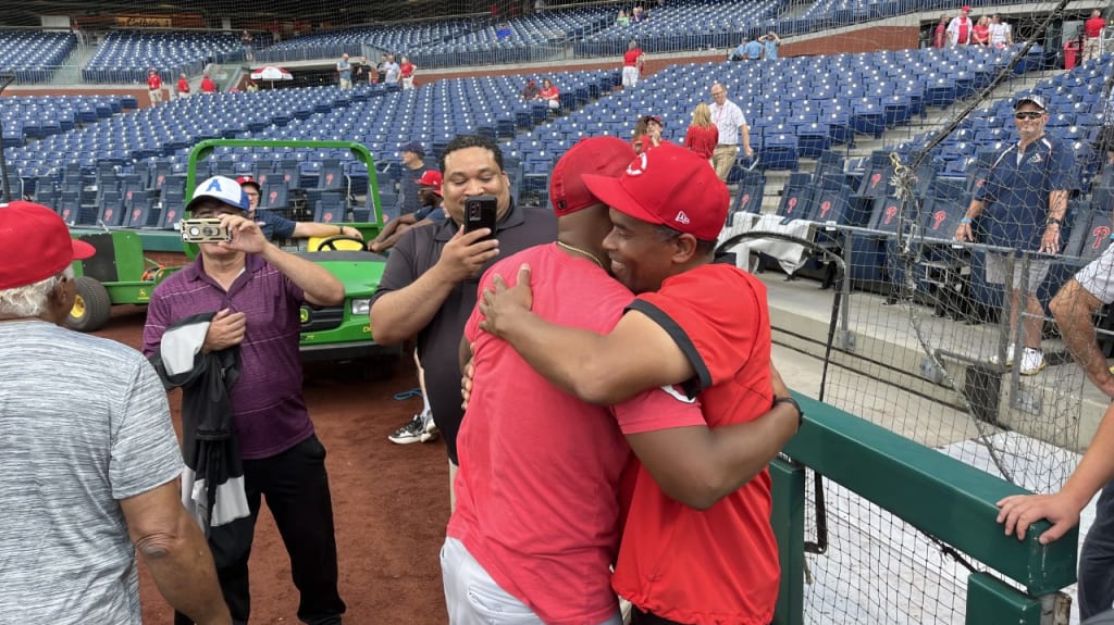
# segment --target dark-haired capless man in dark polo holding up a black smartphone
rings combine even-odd
[[[551,211],[515,206],[502,169],[502,150],[492,139],[461,135],[441,152],[441,194],[449,219],[411,228],[395,244],[372,298],[369,315],[375,339],[384,345],[418,339],[418,358],[437,427],[456,474],[460,408],[460,338],[476,306],[479,277],[500,255],[553,241]],[[496,228],[465,231],[465,204],[479,196],[495,198]],[[494,235],[494,238],[488,238]],[[421,418],[403,428],[424,428]],[[397,436],[399,433],[392,434]]]

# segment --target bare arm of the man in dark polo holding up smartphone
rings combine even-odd
[[[441,250],[437,265],[408,286],[380,296],[369,315],[375,340],[402,343],[428,326],[453,287],[499,255],[497,240],[480,240],[487,232],[487,228],[467,235],[459,230]]]

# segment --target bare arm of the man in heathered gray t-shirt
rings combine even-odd
[[[178,483],[120,500],[128,534],[158,592],[198,625],[232,623],[213,556],[197,523],[178,498]]]

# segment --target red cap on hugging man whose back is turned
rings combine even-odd
[[[584,183],[585,173],[618,177],[634,158],[634,148],[617,137],[587,137],[557,161],[549,177],[549,201],[557,217],[599,204]]]

